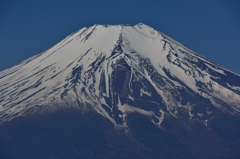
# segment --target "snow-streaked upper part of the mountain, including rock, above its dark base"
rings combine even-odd
[[[93,25],[0,72],[0,119],[75,107],[127,127],[137,112],[207,125],[240,114],[240,76],[145,25]]]

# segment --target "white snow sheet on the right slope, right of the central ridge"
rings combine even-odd
[[[139,53],[143,57],[150,59],[154,68],[159,74],[168,78],[165,75],[162,67],[167,68],[172,76],[184,82],[188,87],[198,94],[202,94],[203,92],[196,86],[197,82],[215,83],[214,87],[211,88],[211,91],[213,91],[211,95],[222,99],[230,105],[234,105],[234,107],[239,111],[240,95],[227,88],[219,86],[216,82],[211,80],[211,74],[209,74],[207,71],[200,70],[194,63],[189,62],[189,60],[194,62],[202,60],[206,62],[206,66],[221,74],[224,74],[224,70],[226,71],[226,69],[222,67],[221,70],[213,68],[208,64],[211,61],[207,61],[206,58],[199,56],[199,54],[194,53],[193,51],[189,52],[186,47],[183,47],[179,43],[172,43],[172,39],[169,40],[169,37],[166,38],[163,34],[160,34],[153,28],[150,28],[144,24],[138,24],[134,27],[127,27],[123,30],[123,37],[129,43],[129,48]],[[184,51],[185,53],[183,54],[179,50]],[[166,58],[167,56],[170,58]],[[176,59],[178,59],[178,63],[181,64],[182,68],[173,64]],[[169,60],[172,63],[170,63]],[[218,65],[215,65],[215,67],[219,68]],[[189,76],[188,72],[191,72],[194,74],[194,76]],[[200,72],[202,74],[200,74]],[[208,94],[205,95],[205,98],[208,98]],[[213,100],[212,98],[210,99]]]

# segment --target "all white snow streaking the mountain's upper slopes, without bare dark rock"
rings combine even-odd
[[[112,55],[116,46],[121,46],[123,52]],[[103,96],[112,98],[110,96],[113,92],[112,74],[119,59],[125,59],[131,67],[130,81],[134,71],[149,81],[163,99],[170,114],[176,114],[177,108],[182,106],[187,107],[190,117],[194,116],[191,113],[193,106],[181,105],[172,93],[180,87],[190,88],[193,92],[210,99],[213,104],[217,103],[214,99],[221,99],[231,105],[236,112],[240,112],[240,95],[231,90],[239,91],[240,86],[226,83],[227,87],[225,87],[212,81],[212,78],[218,77],[211,75],[207,69],[201,70],[196,64],[202,62],[207,68],[222,75],[226,75],[225,71],[228,70],[163,33],[140,23],[134,26],[93,25],[82,28],[45,52],[0,72],[0,118],[6,117],[6,114],[21,115],[31,107],[39,105],[44,107],[53,101],[58,105],[68,102],[71,106],[78,100],[85,106],[91,103],[95,106],[92,109],[116,124],[101,106],[108,104],[100,97],[102,90],[99,90],[99,85],[101,74],[104,74],[106,94]],[[149,65],[153,66],[154,71],[161,76],[164,86],[159,86],[152,79],[146,66],[140,68],[143,59],[149,61]],[[94,68],[93,64],[98,62],[99,66]],[[74,84],[69,84],[71,80],[76,80],[74,89]],[[197,82],[202,82],[206,86],[197,86]],[[85,88],[84,91],[82,88]],[[152,96],[144,89],[141,89],[140,93]],[[134,101],[132,96],[129,95],[129,98]],[[124,120],[128,113],[137,112],[154,116],[159,120],[155,123],[158,126],[164,120],[166,113],[158,108],[162,114],[158,117],[153,111],[146,111],[129,104],[118,103],[116,106],[123,113],[120,117]],[[110,109],[112,111],[112,108]],[[210,111],[207,113],[212,114]],[[198,113],[198,116],[202,117],[202,114]]]

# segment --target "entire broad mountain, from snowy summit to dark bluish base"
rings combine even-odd
[[[4,158],[238,158],[240,75],[145,25],[93,25],[0,72]]]

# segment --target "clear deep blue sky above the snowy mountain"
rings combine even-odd
[[[0,71],[93,24],[144,23],[240,74],[239,0],[1,0]]]

